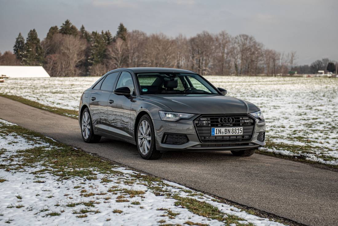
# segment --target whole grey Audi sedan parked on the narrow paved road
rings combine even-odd
[[[256,105],[226,93],[190,70],[115,69],[81,96],[82,138],[135,144],[144,159],[176,150],[251,156],[265,145],[264,116]]]

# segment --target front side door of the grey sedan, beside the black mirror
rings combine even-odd
[[[130,128],[130,108],[135,97],[135,86],[131,74],[122,71],[115,88],[128,87],[129,97],[111,93],[108,101],[108,130],[112,135],[132,140],[133,135]]]

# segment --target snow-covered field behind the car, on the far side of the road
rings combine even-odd
[[[248,100],[266,118],[268,152],[338,164],[338,79],[206,76],[228,95]],[[98,77],[8,79],[0,93],[78,109],[82,91]],[[288,148],[285,145],[289,146]],[[304,156],[303,154],[306,154]],[[292,156],[289,155],[289,156]],[[310,156],[310,157],[309,157]]]

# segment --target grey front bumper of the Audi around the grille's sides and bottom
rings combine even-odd
[[[255,130],[252,138],[248,142],[227,142],[227,143],[202,143],[196,133],[193,123],[194,119],[179,120],[177,122],[168,122],[162,120],[153,120],[155,130],[156,149],[160,151],[203,151],[203,150],[246,150],[258,148],[265,145],[265,141],[257,140],[258,134],[265,131],[265,120],[256,119]],[[184,144],[165,144],[163,137],[166,133],[177,133],[186,135],[188,142]]]

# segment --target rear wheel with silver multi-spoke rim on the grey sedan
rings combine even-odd
[[[81,135],[86,143],[97,143],[101,139],[101,136],[94,134],[93,121],[88,108],[84,109],[81,115]]]

